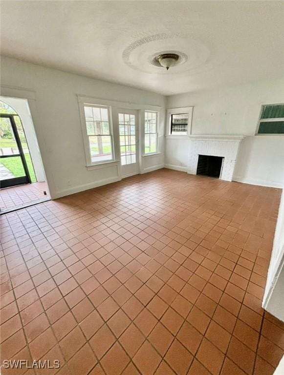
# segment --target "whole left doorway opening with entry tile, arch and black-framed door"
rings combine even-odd
[[[0,97],[0,213],[49,199],[28,102]]]

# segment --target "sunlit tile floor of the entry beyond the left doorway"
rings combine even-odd
[[[1,183],[0,183],[1,184]],[[34,182],[33,184],[19,185],[0,189],[0,208],[1,211],[13,209],[36,203],[39,200],[48,198],[45,182]]]

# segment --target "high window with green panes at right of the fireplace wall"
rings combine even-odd
[[[262,105],[257,134],[284,134],[284,104]]]

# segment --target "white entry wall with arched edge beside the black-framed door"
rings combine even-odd
[[[0,96],[0,100],[9,104],[20,116],[37,181],[45,181],[44,167],[27,100],[4,96]]]

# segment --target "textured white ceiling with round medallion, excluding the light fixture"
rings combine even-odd
[[[283,23],[284,1],[4,0],[1,53],[170,95],[280,77]]]

